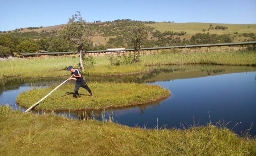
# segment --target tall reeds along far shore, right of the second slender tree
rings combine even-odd
[[[256,66],[256,51],[192,52],[144,55],[145,65],[161,64],[222,64]]]

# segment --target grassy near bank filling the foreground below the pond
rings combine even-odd
[[[256,155],[255,139],[213,125],[147,130],[7,106],[0,106],[0,121],[0,155]]]

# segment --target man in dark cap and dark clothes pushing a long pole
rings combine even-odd
[[[86,89],[90,93],[90,96],[93,97],[92,93],[91,93],[91,89],[88,87],[86,82],[83,80],[83,76],[82,76],[81,72],[79,71],[79,69],[74,69],[72,66],[69,66],[67,68],[67,71],[70,71],[71,75],[73,75],[73,77],[70,78],[69,80],[71,80],[71,79],[76,80],[75,81],[75,94],[73,97],[81,97],[81,95],[78,93],[78,89],[80,87]]]

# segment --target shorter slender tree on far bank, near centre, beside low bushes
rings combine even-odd
[[[133,63],[139,62],[142,41],[148,39],[149,30],[143,22],[135,22],[128,27],[127,41],[134,48]]]

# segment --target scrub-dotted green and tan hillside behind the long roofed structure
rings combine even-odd
[[[106,50],[108,48],[133,48],[127,43],[129,26],[135,21],[115,20],[88,23],[96,29],[86,50]],[[162,47],[256,41],[256,24],[215,24],[215,23],[174,23],[145,21],[148,26],[148,40],[142,47]],[[77,45],[66,41],[59,32],[67,24],[36,26],[0,31],[0,57],[24,52],[77,51]],[[9,42],[11,41],[11,42]]]

